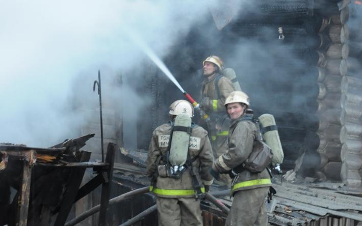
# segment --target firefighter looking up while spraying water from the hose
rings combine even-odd
[[[230,79],[221,73],[224,69],[224,63],[216,55],[211,55],[203,61],[204,80],[201,83],[201,107],[214,121],[215,127],[208,128],[211,135],[211,145],[214,158],[219,157],[226,152],[226,140],[229,127],[229,121],[225,114],[225,99],[235,91]],[[230,186],[231,179],[228,175],[220,175],[221,185]]]

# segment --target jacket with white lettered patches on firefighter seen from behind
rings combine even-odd
[[[157,160],[166,154],[170,133],[171,123],[163,124],[153,131],[146,159],[147,176],[151,177],[157,171]],[[193,126],[190,136],[189,155],[194,159],[192,168],[202,187],[201,190],[204,191],[203,185],[210,186],[213,183],[210,174],[213,154],[208,132],[197,125]],[[159,164],[165,163],[162,160],[159,162]],[[195,197],[189,170],[187,168],[179,179],[158,176],[156,186],[151,185],[150,190],[160,197]]]

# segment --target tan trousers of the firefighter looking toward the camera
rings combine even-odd
[[[269,187],[237,191],[226,218],[226,226],[266,226],[265,200]]]

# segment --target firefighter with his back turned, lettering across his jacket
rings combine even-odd
[[[191,123],[193,107],[186,100],[173,102],[169,114],[171,121],[153,131],[146,160],[147,176],[152,177],[150,191],[156,196],[159,225],[202,225],[200,197],[213,183],[210,174],[213,155],[208,132]],[[189,125],[179,126],[177,118],[185,115],[190,120]],[[175,137],[175,133],[185,135],[185,131],[189,136],[186,150],[182,150],[185,142],[179,142],[179,139],[183,137]],[[172,148],[179,153],[174,155]],[[186,164],[172,165],[171,160]]]

